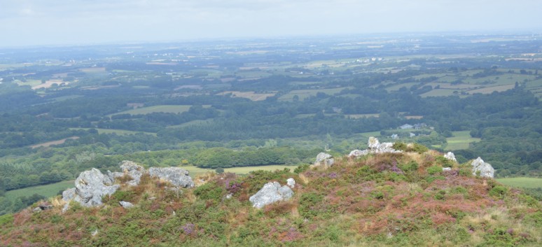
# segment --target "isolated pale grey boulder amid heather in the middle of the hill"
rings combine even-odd
[[[270,182],[263,185],[263,188],[255,195],[251,196],[249,201],[252,203],[253,207],[261,209],[265,205],[288,200],[291,197],[293,197],[293,190],[287,185],[281,187],[277,182]]]

